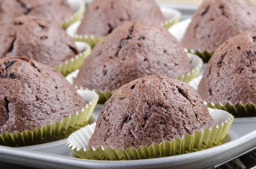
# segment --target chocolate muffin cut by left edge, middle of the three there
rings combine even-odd
[[[0,59],[26,56],[55,66],[78,54],[72,38],[52,21],[21,16],[0,26]]]

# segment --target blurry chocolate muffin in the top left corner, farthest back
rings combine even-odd
[[[74,14],[67,0],[0,0],[0,23],[30,15],[61,23]]]

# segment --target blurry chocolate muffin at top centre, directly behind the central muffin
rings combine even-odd
[[[131,20],[160,24],[165,18],[154,0],[93,0],[77,34],[107,36]]]

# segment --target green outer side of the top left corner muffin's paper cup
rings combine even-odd
[[[72,3],[72,1],[70,1],[69,3]],[[76,13],[61,22],[61,27],[63,29],[67,29],[68,26],[70,26],[71,24],[83,18],[84,12],[85,12],[85,4],[83,3],[82,0],[79,0],[79,3],[80,3],[79,9],[76,11]]]

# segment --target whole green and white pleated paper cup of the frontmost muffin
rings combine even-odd
[[[79,157],[88,160],[140,160],[197,152],[221,145],[234,120],[232,115],[223,110],[208,110],[218,124],[216,127],[204,129],[203,132],[195,131],[193,135],[185,134],[182,139],[174,138],[172,142],[164,140],[160,144],[152,143],[149,148],[140,146],[138,149],[130,147],[124,150],[122,147],[117,149],[112,149],[111,147],[94,149],[90,147],[86,150],[96,123],[74,132],[68,137],[66,143]]]

